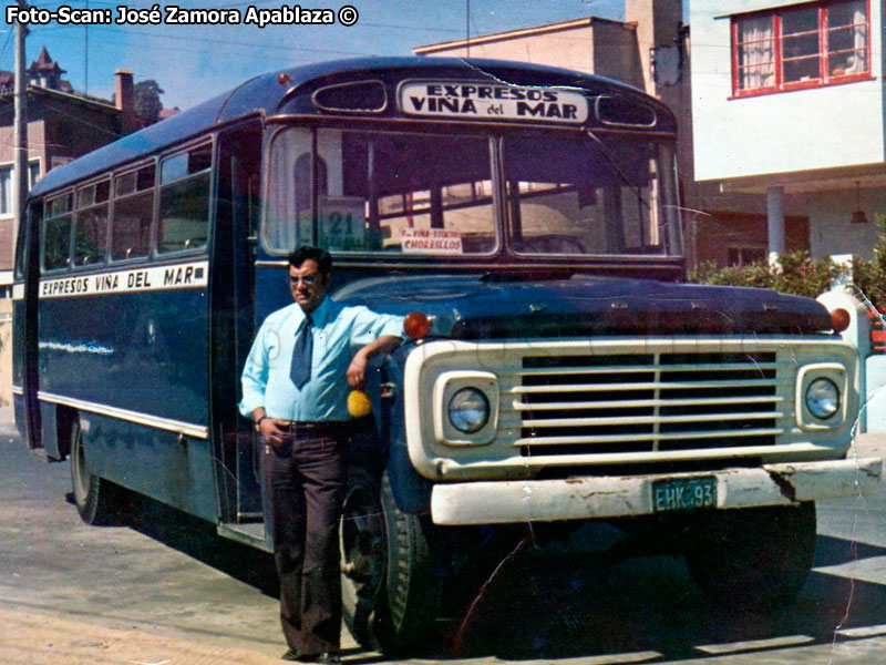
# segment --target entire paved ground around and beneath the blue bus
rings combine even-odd
[[[886,453],[886,437],[867,437],[859,449]],[[148,662],[110,657],[107,635],[172,640],[163,652],[172,655],[150,661],[169,665],[246,662],[219,648],[262,663],[280,655],[267,556],[152,503],[133,526],[86,526],[68,492],[66,463],[45,464],[0,436],[0,624],[14,618],[24,632],[44,617],[51,631],[61,630],[58,620],[73,622],[66,631],[102,631],[101,640],[65,642],[84,653],[105,649],[105,659],[84,663]],[[818,533],[800,602],[775,620],[717,614],[672,557],[578,570],[568,560],[539,567],[517,555],[463,625],[449,627],[446,648],[414,662],[886,663],[886,491],[820,505]],[[21,651],[21,637],[0,625],[0,663],[68,665],[39,657],[51,638],[41,636],[42,652]],[[350,640],[346,646],[346,665],[382,659]]]

